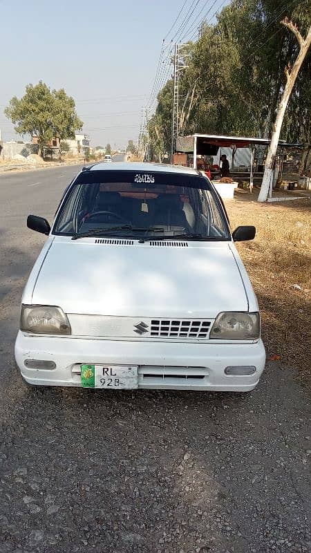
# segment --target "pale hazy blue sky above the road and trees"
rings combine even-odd
[[[93,146],[123,149],[137,141],[142,110],[145,117],[151,106],[152,113],[171,76],[174,42],[195,39],[200,21],[214,22],[228,3],[0,0],[2,140],[21,140],[3,109],[42,80],[74,98]]]

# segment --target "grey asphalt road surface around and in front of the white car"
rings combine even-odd
[[[252,393],[29,388],[23,285],[77,167],[0,176],[0,553],[310,551],[308,397],[267,364]],[[62,271],[62,267],[59,267]]]

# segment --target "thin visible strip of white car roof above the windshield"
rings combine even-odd
[[[167,165],[162,163],[142,163],[142,162],[124,162],[117,161],[107,167],[104,163],[95,163],[91,167],[86,167],[89,171],[143,171],[157,173],[175,173],[198,176],[198,171],[191,167],[182,165]],[[86,170],[84,169],[84,170]]]

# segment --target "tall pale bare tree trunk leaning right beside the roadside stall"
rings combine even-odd
[[[311,43],[311,26],[309,28],[307,37],[303,39],[303,37],[301,37],[299,30],[296,28],[296,26],[294,26],[292,21],[288,21],[288,19],[284,19],[282,23],[290,30],[292,30],[292,32],[294,32],[296,39],[299,41],[300,50],[299,50],[299,55],[296,57],[296,61],[292,66],[292,71],[290,71],[290,66],[288,66],[285,69],[286,84],[283,91],[283,95],[281,97],[278,113],[276,114],[274,131],[272,133],[270,147],[267,153],[267,159],[265,160],[265,173],[263,174],[263,182],[261,185],[261,191],[259,192],[258,202],[265,202],[267,200],[267,195],[273,178],[273,167],[274,167],[274,161],[276,158],[276,149],[279,144],[281,127],[282,127],[285,111],[288,106],[288,100],[290,100],[290,95],[292,93],[292,89],[294,88],[296,77],[299,73],[299,69],[301,68],[303,59],[305,59],[305,55],[307,54]]]

